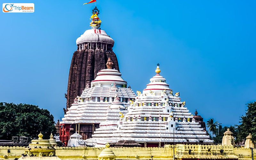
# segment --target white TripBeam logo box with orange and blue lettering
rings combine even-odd
[[[33,3],[3,3],[3,12],[34,12],[35,5]]]

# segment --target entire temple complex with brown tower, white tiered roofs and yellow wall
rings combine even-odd
[[[91,0],[89,3],[96,2]],[[99,10],[76,40],[66,94],[64,118],[56,124],[59,137],[40,132],[26,146],[0,146],[0,160],[253,160],[251,134],[236,147],[228,129],[222,144],[213,145],[203,118],[191,114],[180,92],[156,75],[136,94],[121,77],[114,40],[100,29]],[[165,69],[162,68],[163,73]],[[153,71],[152,71],[153,72]],[[143,84],[141,84],[143,85]],[[56,141],[63,146],[57,147]],[[18,143],[17,143],[18,144]]]

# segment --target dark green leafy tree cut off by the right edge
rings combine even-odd
[[[256,141],[256,102],[246,104],[248,109],[245,116],[241,116],[241,124],[238,125],[237,139],[243,142],[249,133],[252,134],[252,140]]]

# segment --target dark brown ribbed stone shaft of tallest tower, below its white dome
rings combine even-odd
[[[116,54],[111,48],[98,50],[96,48],[90,49],[89,47],[89,49],[85,48],[73,54],[68,76],[68,90],[65,96],[67,97],[66,109],[74,103],[76,96],[82,94],[87,84],[91,86],[91,82],[96,78],[97,73],[101,69],[106,69],[106,63],[110,64],[110,62],[113,68],[119,70]]]

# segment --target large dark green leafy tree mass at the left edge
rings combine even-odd
[[[30,104],[0,103],[0,139],[11,140],[12,136],[34,139],[40,132],[44,139],[56,132],[48,110]]]

